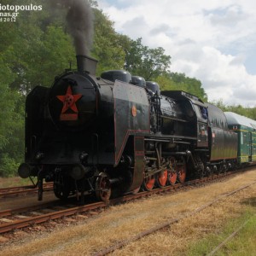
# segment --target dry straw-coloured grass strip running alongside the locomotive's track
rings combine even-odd
[[[93,255],[118,241],[130,239],[186,212],[191,212],[221,195],[256,181],[256,171],[245,172],[222,182],[171,195],[110,207],[79,225],[70,224],[26,236],[20,241],[0,243],[0,255]],[[132,242],[113,255],[184,255],[191,241],[221,229],[227,219],[238,218],[256,198],[256,184],[214,203],[193,217],[170,228]],[[255,206],[251,206],[254,207]],[[256,212],[256,209],[255,209]]]

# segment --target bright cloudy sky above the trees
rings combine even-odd
[[[98,0],[116,32],[172,56],[208,100],[256,107],[256,1]]]

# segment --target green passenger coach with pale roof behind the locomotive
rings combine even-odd
[[[225,112],[230,130],[237,133],[238,164],[256,162],[256,121],[237,113]]]

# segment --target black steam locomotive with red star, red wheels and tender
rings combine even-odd
[[[78,55],[78,71],[26,98],[26,160],[20,177],[54,182],[58,198],[111,195],[180,183],[236,166],[237,136],[224,113],[183,91],[108,71]]]

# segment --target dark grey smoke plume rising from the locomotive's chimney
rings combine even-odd
[[[55,7],[67,9],[67,28],[77,55],[89,55],[93,40],[93,14],[88,0],[57,0]]]

